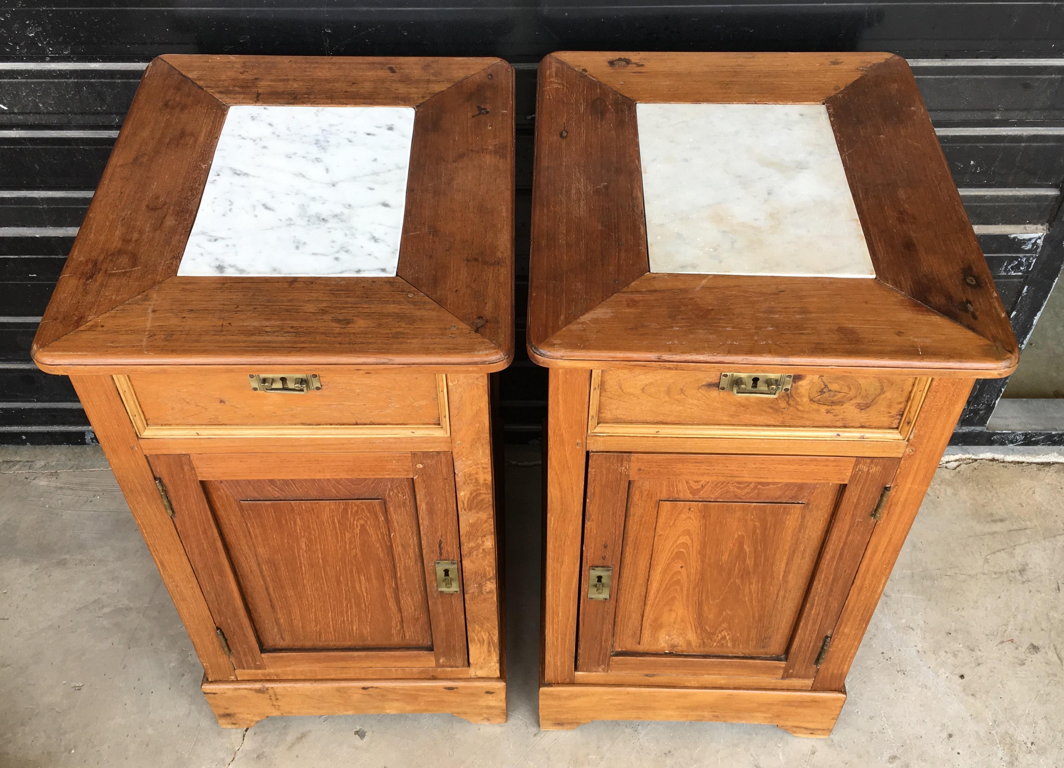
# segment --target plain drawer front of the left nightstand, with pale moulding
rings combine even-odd
[[[293,371],[263,369],[260,375]],[[300,373],[309,375],[311,371]],[[140,437],[448,435],[447,377],[320,374],[320,389],[252,389],[252,374],[131,373],[115,384]]]

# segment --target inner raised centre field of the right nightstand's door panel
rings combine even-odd
[[[639,633],[618,637],[616,650],[783,655],[828,511],[805,503],[659,501]]]

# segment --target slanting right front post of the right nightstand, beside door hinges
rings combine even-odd
[[[828,654],[813,682],[814,689],[843,689],[846,673],[974,383],[971,379],[931,382],[909,449],[894,477],[891,496],[868,540],[853,586],[832,632]]]

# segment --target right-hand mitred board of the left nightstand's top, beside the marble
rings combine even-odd
[[[421,104],[397,274],[514,352],[514,70],[497,61]]]

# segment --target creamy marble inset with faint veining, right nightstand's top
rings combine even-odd
[[[822,104],[637,104],[651,272],[872,278]]]

